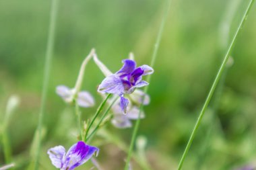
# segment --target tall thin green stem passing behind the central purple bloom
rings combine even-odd
[[[159,48],[159,44],[160,44],[160,41],[161,41],[161,38],[162,38],[162,32],[164,30],[166,19],[168,17],[168,12],[170,10],[170,4],[171,4],[171,0],[168,0],[168,5],[166,6],[166,11],[165,11],[165,13],[162,17],[162,22],[161,22],[160,29],[159,29],[159,32],[158,32],[158,36],[156,38],[156,44],[154,46],[154,52],[152,54],[152,60],[151,60],[151,63],[150,63],[151,67],[154,67],[154,64],[156,62],[156,56],[158,54],[158,48]],[[146,81],[148,81],[148,83],[150,83],[150,79],[151,79],[151,75],[148,75]],[[144,93],[147,93],[147,92],[148,92],[148,86],[146,86],[145,89],[144,89]],[[145,99],[145,96],[143,96],[142,101],[144,101],[144,99]],[[131,155],[132,155],[132,152],[133,152],[133,147],[134,147],[134,144],[135,144],[137,131],[139,130],[140,114],[143,110],[143,104],[142,103],[143,102],[141,102],[141,105],[140,105],[140,108],[139,108],[138,119],[137,119],[135,127],[133,129],[133,134],[132,134],[132,137],[131,137],[131,143],[130,143],[130,146],[129,146],[129,152],[128,152],[127,160],[126,160],[126,163],[125,163],[125,170],[129,169],[129,162],[130,162]]]

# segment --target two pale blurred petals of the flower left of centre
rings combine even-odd
[[[72,103],[75,99],[75,89],[70,89],[65,85],[58,85],[56,93],[66,102]],[[77,104],[82,108],[94,106],[94,97],[88,91],[79,91],[77,93]]]

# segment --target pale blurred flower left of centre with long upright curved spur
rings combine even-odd
[[[90,54],[86,56],[84,59],[84,62],[82,63],[82,66],[79,71],[79,75],[77,77],[77,81],[75,83],[75,87],[73,89],[70,89],[69,87],[65,85],[59,85],[56,88],[56,93],[66,102],[66,103],[72,103],[75,99],[77,100],[77,104],[80,107],[88,108],[92,107],[94,105],[94,98],[88,91],[80,91],[82,86],[82,81],[84,78],[84,70],[86,69],[86,65],[90,58],[92,58],[93,54],[95,53],[95,50],[92,49]]]

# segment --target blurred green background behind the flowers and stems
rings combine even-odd
[[[228,44],[249,0],[172,0],[150,82],[150,105],[139,135],[146,136],[152,169],[176,169]],[[150,64],[166,1],[59,1],[55,48],[44,116],[41,169],[55,169],[48,148],[69,148],[75,137],[73,108],[55,93],[60,84],[73,87],[79,67],[91,48],[111,71],[129,52],[138,65]],[[238,36],[232,58],[205,113],[183,169],[234,169],[256,161],[256,7]],[[10,95],[20,96],[8,126],[17,169],[26,169],[38,121],[51,1],[0,1],[0,111]],[[90,62],[83,89],[96,92],[104,76]],[[88,119],[96,107],[83,109]],[[133,122],[135,124],[135,122]],[[129,144],[133,128],[106,130]],[[100,142],[103,169],[123,169],[125,153],[116,144]],[[102,139],[101,139],[102,140]],[[104,140],[103,140],[104,141]],[[0,165],[3,165],[0,146]],[[86,163],[80,169],[92,167]],[[133,161],[133,169],[141,169]]]

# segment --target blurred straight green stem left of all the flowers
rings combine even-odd
[[[40,112],[38,116],[38,143],[36,146],[36,157],[35,157],[35,164],[34,169],[38,169],[38,161],[40,155],[40,145],[41,145],[41,132],[42,132],[42,122],[44,118],[44,108],[46,103],[46,95],[49,86],[49,75],[51,69],[51,60],[53,56],[53,46],[54,46],[54,38],[55,38],[55,24],[56,24],[56,17],[57,17],[57,8],[58,8],[59,0],[53,0],[51,3],[51,15],[50,15],[50,24],[49,24],[49,34],[48,34],[48,41],[46,46],[46,56],[45,56],[45,65],[44,65],[44,78],[43,78],[43,86],[42,86],[42,99],[40,104]],[[35,133],[35,135],[37,134]]]

